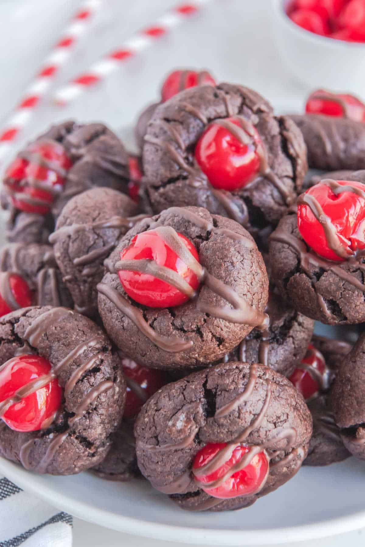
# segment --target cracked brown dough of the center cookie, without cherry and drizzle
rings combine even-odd
[[[188,220],[184,211],[198,215],[208,222],[211,230],[199,227]],[[171,226],[194,243],[202,267],[224,284],[231,287],[250,306],[263,310],[268,299],[268,277],[262,255],[252,237],[239,224],[228,218],[211,215],[203,208],[173,207],[152,218],[136,224],[121,238],[107,262],[112,266],[120,259],[120,253],[128,247],[132,238],[146,230],[159,226]],[[224,230],[242,235],[250,247],[228,237]],[[123,296],[134,309],[140,310],[144,322],[158,335],[190,342],[188,350],[171,353],[155,345],[124,312],[99,290],[99,313],[107,333],[125,354],[136,362],[153,368],[201,367],[220,359],[232,350],[252,330],[248,324],[233,323],[210,316],[197,309],[197,303],[227,306],[227,301],[202,284],[198,298],[171,308],[148,308],[137,304],[126,295],[118,274],[108,272],[102,284]]]

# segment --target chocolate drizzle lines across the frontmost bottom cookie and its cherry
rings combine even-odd
[[[256,364],[252,364],[250,366],[250,375],[248,377],[248,381],[246,383],[244,391],[237,395],[230,403],[223,405],[221,408],[217,409],[214,420],[219,420],[219,418],[222,418],[223,416],[226,416],[230,412],[237,409],[239,405],[244,403],[246,400],[250,399],[257,381],[257,366]],[[190,482],[195,479],[195,486],[200,488],[201,482],[198,480],[199,476],[205,476],[209,475],[211,473],[215,473],[217,469],[219,469],[224,462],[226,462],[230,456],[233,453],[233,450],[237,445],[245,444],[246,446],[250,447],[250,451],[240,459],[239,462],[237,462],[232,468],[230,468],[227,473],[222,475],[216,480],[213,480],[209,483],[205,483],[204,486],[208,488],[216,488],[219,485],[223,484],[225,480],[229,478],[233,473],[244,469],[246,465],[250,464],[252,459],[260,452],[264,452],[265,456],[268,458],[268,461],[271,461],[275,458],[277,458],[281,452],[285,451],[286,455],[283,456],[279,461],[275,461],[270,464],[270,468],[268,470],[271,473],[273,471],[274,473],[277,472],[277,470],[287,467],[289,465],[292,465],[294,461],[296,461],[296,467],[300,467],[300,464],[303,461],[305,450],[304,447],[297,447],[296,449],[293,449],[293,445],[296,443],[297,440],[297,432],[294,428],[283,428],[275,433],[275,435],[268,440],[264,441],[260,445],[250,445],[250,443],[245,443],[246,439],[250,436],[250,434],[255,430],[258,429],[266,415],[266,411],[269,408],[270,400],[271,400],[271,387],[272,382],[268,379],[267,375],[265,374],[263,377],[263,380],[266,383],[266,394],[265,399],[262,404],[262,407],[258,414],[253,418],[252,422],[244,429],[242,430],[237,437],[235,437],[233,440],[231,440],[229,443],[227,443],[223,449],[219,450],[212,459],[210,459],[205,465],[202,465],[202,467],[199,467],[198,469],[187,469],[186,472],[184,472],[182,475],[179,475],[175,480],[173,480],[170,484],[164,485],[164,486],[158,486],[153,485],[154,488],[157,490],[167,493],[167,494],[174,494],[174,493],[184,493],[186,490],[190,487]],[[142,443],[137,443],[137,449],[142,450],[149,450],[149,451],[160,451],[164,452],[167,450],[181,450],[190,447],[194,443],[194,439],[196,434],[199,433],[199,427],[196,426],[194,428],[193,432],[188,435],[188,437],[182,439],[181,441],[178,441],[177,443],[167,443],[164,445],[143,445]],[[287,440],[287,446],[285,449],[282,450],[271,450],[270,446],[273,446],[275,443],[281,441],[281,440]],[[259,489],[256,492],[251,492],[248,494],[249,496],[254,495],[258,493],[265,485],[266,479],[268,475],[266,475],[265,480],[260,485]],[[221,499],[217,498],[209,498],[207,501],[198,503],[193,510],[206,510],[214,505],[217,505],[218,503],[221,503]],[[190,507],[190,509],[192,509]]]

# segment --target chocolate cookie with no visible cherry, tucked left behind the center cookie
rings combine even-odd
[[[104,275],[103,260],[140,220],[132,217],[136,212],[135,202],[111,188],[86,190],[63,208],[49,240],[80,313],[92,317],[97,312],[96,285]]]

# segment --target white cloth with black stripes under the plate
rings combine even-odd
[[[71,547],[72,516],[0,477],[0,547]]]

